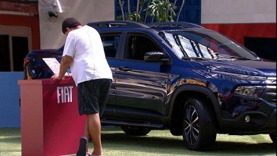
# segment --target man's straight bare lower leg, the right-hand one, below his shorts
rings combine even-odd
[[[93,142],[93,154],[102,154],[102,144],[101,144],[101,123],[100,116],[96,114],[87,114],[87,122],[89,128],[89,135],[91,136],[91,141]],[[86,132],[86,131],[85,131]]]

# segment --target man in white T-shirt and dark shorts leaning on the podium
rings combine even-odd
[[[62,80],[70,67],[73,80],[78,87],[79,114],[87,115],[84,137],[80,139],[77,156],[86,155],[89,138],[94,147],[91,155],[102,156],[100,116],[104,112],[112,80],[102,41],[94,28],[82,26],[74,18],[64,19],[62,33],[66,35],[66,42],[60,62],[60,73],[51,78]]]

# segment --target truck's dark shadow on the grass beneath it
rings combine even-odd
[[[124,133],[102,134],[103,144],[109,150],[145,151],[157,155],[276,155],[276,147],[269,143],[216,141],[210,151],[188,150],[182,138],[144,136]]]

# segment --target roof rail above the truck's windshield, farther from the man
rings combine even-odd
[[[148,23],[146,24],[148,26],[179,26],[183,28],[203,28],[202,26],[199,26],[197,24],[188,23],[185,21],[164,21],[164,22],[154,22],[154,23]]]

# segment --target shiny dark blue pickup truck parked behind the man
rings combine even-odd
[[[276,62],[185,22],[87,25],[100,33],[114,76],[103,125],[128,135],[169,129],[190,150],[211,149],[217,133],[269,134],[276,143]],[[62,51],[30,51],[24,78],[50,78],[42,58],[60,60]]]

